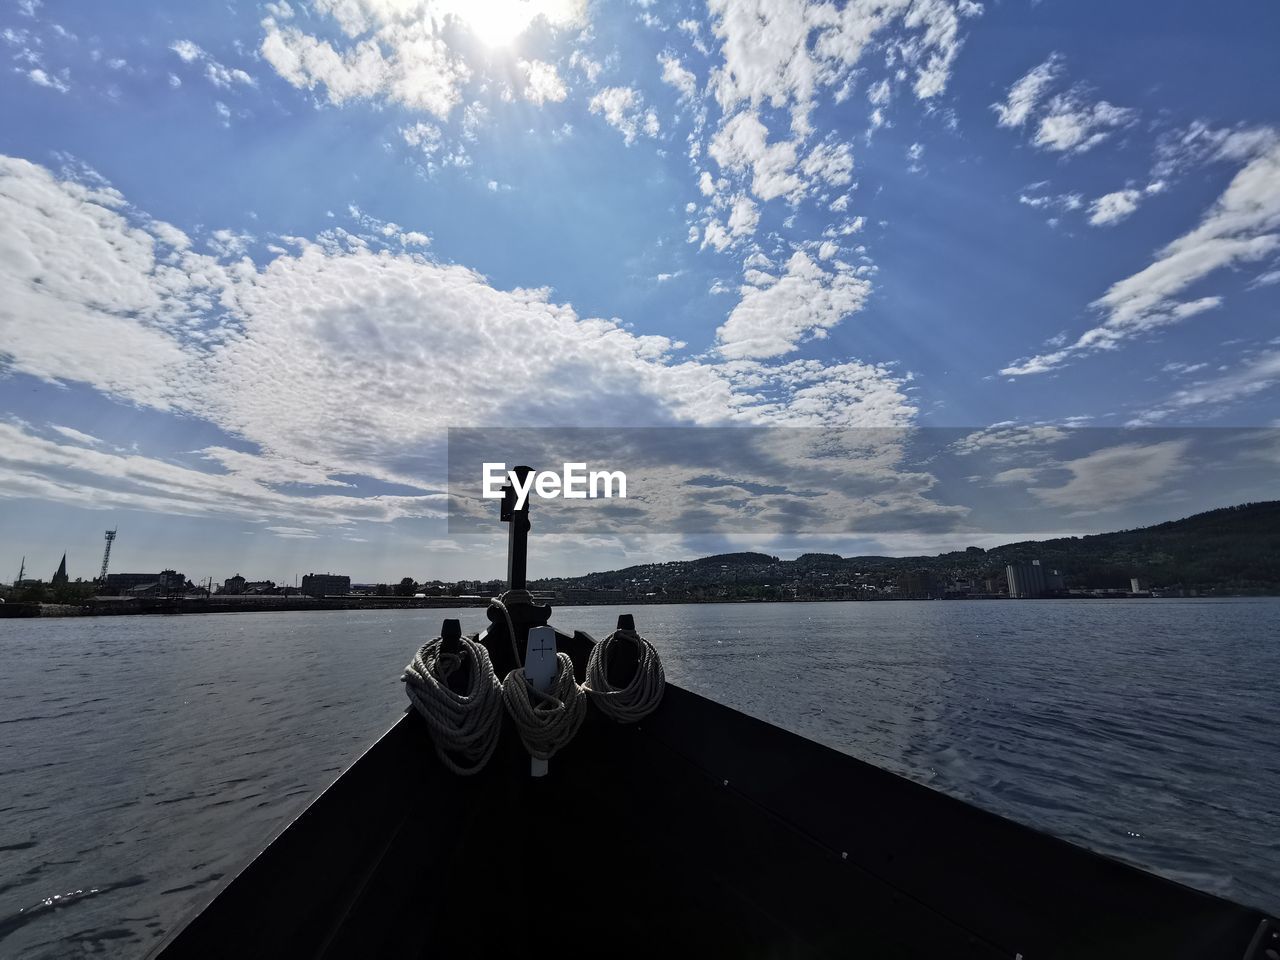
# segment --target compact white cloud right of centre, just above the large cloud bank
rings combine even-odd
[[[765,289],[746,287],[742,298],[716,332],[719,352],[731,360],[790,353],[861,308],[870,283],[846,264],[831,271],[796,251],[786,270]]]

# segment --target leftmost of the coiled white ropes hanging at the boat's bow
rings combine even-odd
[[[477,773],[493,756],[502,730],[502,685],[484,644],[462,637],[462,650],[444,653],[440,637],[429,640],[404,668],[404,691],[431,731],[440,762],[460,776]],[[466,692],[449,677],[471,658]]]

